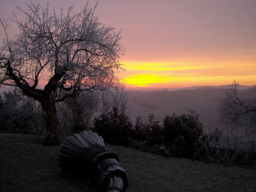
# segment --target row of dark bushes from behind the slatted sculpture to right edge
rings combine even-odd
[[[95,130],[107,143],[129,145],[141,151],[150,151],[166,157],[186,157],[207,163],[224,165],[255,166],[256,152],[253,142],[231,145],[236,142],[234,135],[215,128],[204,133],[199,114],[166,116],[163,125],[156,121],[154,114],[148,114],[148,122],[143,123],[141,116],[132,126],[127,116],[119,115],[114,109],[108,115],[94,119]],[[239,140],[239,139],[238,139]]]

